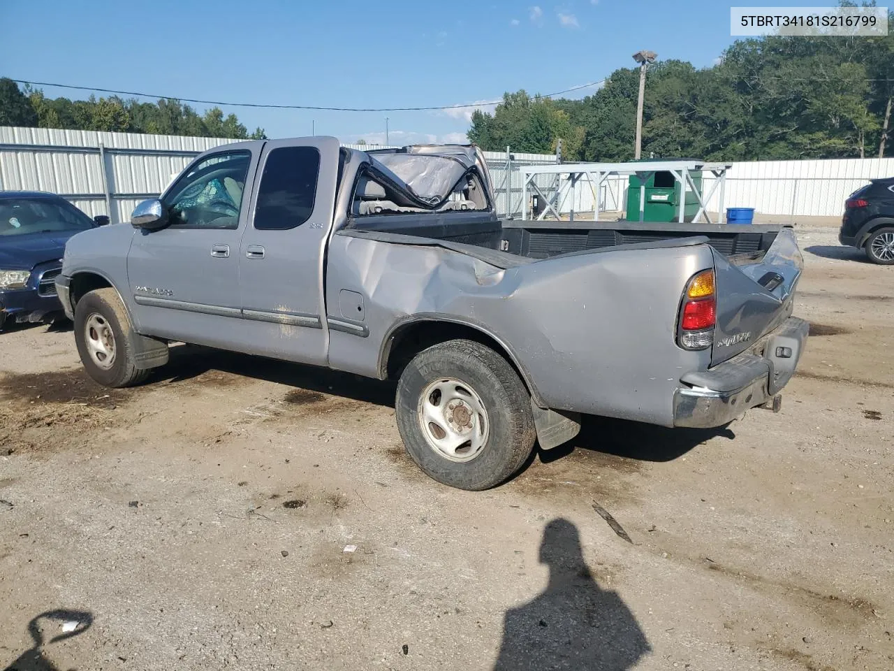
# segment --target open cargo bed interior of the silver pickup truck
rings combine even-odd
[[[618,244],[658,242],[704,235],[711,246],[730,257],[770,249],[779,224],[665,224],[634,221],[502,220],[500,249],[532,259],[547,259],[569,251],[595,250]]]

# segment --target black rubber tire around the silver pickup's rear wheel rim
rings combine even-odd
[[[486,439],[471,461],[451,461],[423,429],[423,395],[442,378],[467,385],[485,409]],[[519,471],[534,449],[536,429],[527,389],[502,356],[471,340],[451,340],[419,352],[401,375],[395,415],[413,461],[429,477],[455,488],[496,487]]]

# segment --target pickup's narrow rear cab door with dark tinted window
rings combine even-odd
[[[239,252],[242,318],[254,353],[326,363],[323,264],[340,151],[327,137],[264,145]]]

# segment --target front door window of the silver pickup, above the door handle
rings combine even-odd
[[[190,167],[164,198],[172,226],[238,228],[251,152],[229,151]]]

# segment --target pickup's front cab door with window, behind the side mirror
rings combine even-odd
[[[169,225],[133,236],[127,275],[142,333],[240,349],[242,195],[261,145],[199,157],[162,197]]]

